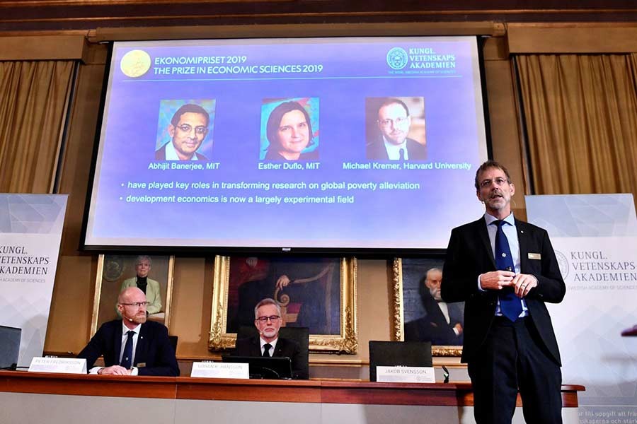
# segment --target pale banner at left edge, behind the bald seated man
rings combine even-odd
[[[0,194],[0,325],[22,329],[21,367],[44,349],[66,208],[66,194]]]

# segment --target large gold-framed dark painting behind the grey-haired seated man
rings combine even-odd
[[[355,258],[217,256],[208,348],[233,348],[239,327],[254,325],[255,305],[272,298],[282,326],[309,328],[311,352],[355,353],[356,274]]]

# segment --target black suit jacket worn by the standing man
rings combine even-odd
[[[553,324],[544,302],[561,302],[566,285],[546,230],[517,219],[515,226],[520,242],[520,271],[537,278],[537,287],[529,291],[524,300],[541,343],[555,363],[561,365]],[[541,259],[529,259],[529,253],[540,254]],[[465,301],[464,363],[471,360],[485,341],[498,300],[495,290],[478,290],[478,275],[496,269],[484,218],[452,230],[442,271],[441,294],[445,302]]]

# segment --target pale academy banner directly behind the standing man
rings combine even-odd
[[[548,305],[580,423],[637,423],[637,218],[632,194],[526,196],[549,231],[566,297]],[[634,327],[634,328],[633,328]]]

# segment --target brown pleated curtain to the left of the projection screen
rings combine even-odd
[[[0,192],[48,193],[73,61],[0,61]]]

